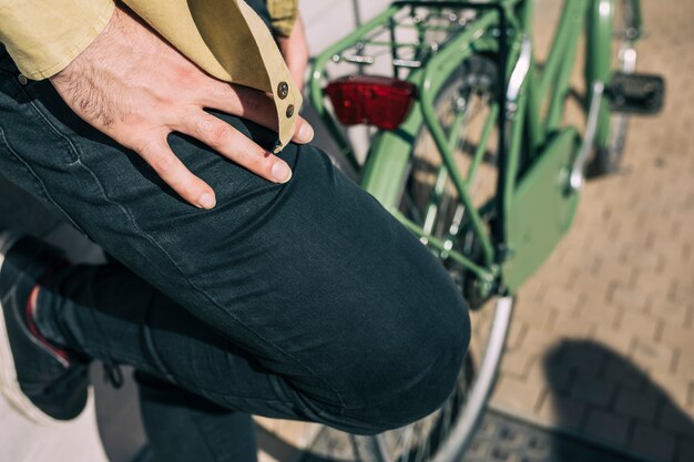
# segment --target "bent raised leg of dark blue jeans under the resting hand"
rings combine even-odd
[[[200,211],[49,82],[21,85],[4,52],[0,75],[0,171],[120,261],[51,279],[39,298],[49,337],[220,409],[357,433],[406,424],[449,394],[469,341],[465,301],[429,250],[325,154],[288,146],[294,177],[277,185],[171,135],[217,194]]]

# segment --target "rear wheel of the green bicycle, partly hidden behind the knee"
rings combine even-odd
[[[466,60],[448,79],[437,96],[436,109],[443,129],[451,135],[455,122],[460,129],[455,136],[456,162],[466,175],[474,164],[474,152],[482,138],[486,121],[493,117],[497,68],[483,57]],[[458,126],[458,125],[455,125]],[[491,136],[490,138],[493,138]],[[483,214],[488,230],[493,227],[493,208],[486,207],[497,193],[497,146],[483,146],[484,155],[477,165],[469,189],[476,207]],[[467,298],[474,292],[476,278],[448,258],[458,250],[467,257],[480,258],[479,245],[467,222],[467,213],[456,188],[441,170],[441,157],[428,131],[422,130],[415,142],[408,178],[404,184],[400,212],[426,232],[447,243],[448,251],[438,253],[451,278]],[[426,244],[426,243],[425,243]],[[358,460],[363,462],[452,462],[458,460],[474,431],[493,384],[503,350],[512,310],[512,299],[493,304],[476,300],[472,317],[470,351],[457,387],[437,412],[377,437],[353,437]]]

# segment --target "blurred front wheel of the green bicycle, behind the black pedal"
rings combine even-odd
[[[639,0],[615,1],[612,41],[613,69],[622,73],[636,71],[637,2]],[[629,117],[625,114],[611,114],[608,141],[595,146],[595,154],[588,166],[590,176],[606,175],[620,170],[627,129]]]

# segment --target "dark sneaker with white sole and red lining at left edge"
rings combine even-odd
[[[76,418],[89,396],[89,361],[43,338],[29,306],[41,278],[67,264],[33,237],[0,233],[0,392],[38,423]]]

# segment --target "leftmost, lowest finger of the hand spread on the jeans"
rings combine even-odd
[[[171,151],[165,138],[151,140],[135,150],[181,197],[200,208],[214,208],[214,191],[193,175]]]

